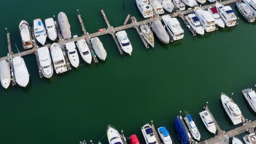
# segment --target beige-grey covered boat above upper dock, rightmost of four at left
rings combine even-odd
[[[65,13],[60,12],[58,14],[58,23],[59,23],[59,29],[62,34],[62,38],[71,39],[71,30],[70,30],[69,20]]]

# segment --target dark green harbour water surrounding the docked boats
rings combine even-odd
[[[13,4],[14,3],[14,4]],[[72,25],[72,35],[82,34],[76,10],[89,33],[106,28],[100,13],[102,4],[112,26],[122,25],[127,14],[143,20],[135,0],[5,0],[0,13],[0,56],[6,56],[5,27],[22,50],[18,25],[21,20],[42,20],[63,11]],[[30,73],[27,88],[0,88],[0,144],[78,144],[85,139],[97,142],[108,124],[126,136],[138,134],[144,143],[141,126],[154,121],[174,133],[174,117],[189,111],[201,133],[201,140],[212,137],[200,120],[199,112],[209,101],[209,108],[220,127],[228,131],[236,126],[223,110],[220,93],[230,95],[243,115],[255,120],[241,90],[256,83],[255,23],[238,17],[236,28],[193,36],[182,23],[184,39],[164,45],[155,38],[155,48],[145,49],[135,29],[128,29],[132,56],[120,56],[111,35],[100,36],[107,51],[105,62],[82,65],[78,69],[40,79],[34,55],[24,56]],[[242,124],[238,124],[240,126]],[[108,144],[107,137],[101,140]]]

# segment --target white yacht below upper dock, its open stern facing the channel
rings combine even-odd
[[[57,43],[51,46],[51,56],[53,58],[54,69],[57,74],[67,71],[66,61],[61,47]]]

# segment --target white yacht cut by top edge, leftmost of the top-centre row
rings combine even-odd
[[[144,18],[153,16],[153,8],[148,0],[136,0],[137,7]]]

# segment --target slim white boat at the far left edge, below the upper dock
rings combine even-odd
[[[11,82],[10,65],[7,61],[0,62],[0,80],[3,88],[7,89]]]

